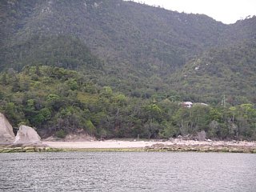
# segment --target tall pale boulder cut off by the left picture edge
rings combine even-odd
[[[0,113],[0,144],[12,144],[14,142],[15,135],[13,127],[6,117]]]

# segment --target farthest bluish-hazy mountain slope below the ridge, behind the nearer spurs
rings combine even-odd
[[[6,5],[4,12],[14,12],[15,18],[14,25],[6,29],[13,32],[6,38],[9,52],[34,35],[71,34],[110,62],[110,68],[113,63],[112,68],[132,66],[149,75],[182,66],[188,56],[216,45],[226,28],[205,15],[178,14],[121,0],[25,0]]]

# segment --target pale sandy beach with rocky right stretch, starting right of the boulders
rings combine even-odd
[[[198,152],[256,152],[256,142],[246,141],[194,141],[173,139],[171,141],[85,141],[58,142],[43,141],[43,145],[58,149],[142,149]]]

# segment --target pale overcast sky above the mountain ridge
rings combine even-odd
[[[206,14],[219,22],[234,23],[247,16],[256,15],[256,0],[134,0],[166,10],[187,14]]]

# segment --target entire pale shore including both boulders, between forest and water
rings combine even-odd
[[[168,141],[96,141],[86,135],[69,135],[64,140],[48,138],[42,141],[36,130],[29,126],[20,126],[16,136],[6,117],[0,113],[0,153],[12,152],[51,152],[51,151],[197,151],[255,153],[256,142],[211,141],[204,137],[170,138]],[[201,134],[200,134],[201,135]]]

